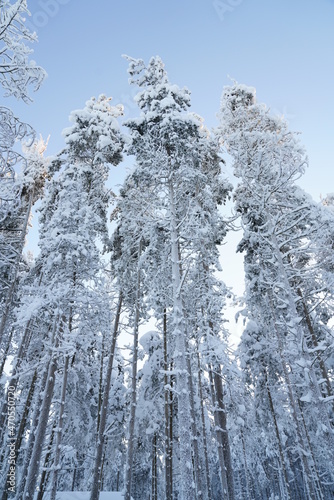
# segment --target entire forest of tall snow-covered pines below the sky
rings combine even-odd
[[[0,9],[2,89],[29,102],[26,1]],[[210,131],[158,56],[124,57],[137,117],[87,96],[57,156],[0,106],[0,499],[333,499],[334,194],[298,186],[306,152],[254,88],[224,87]]]

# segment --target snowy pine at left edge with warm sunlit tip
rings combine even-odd
[[[18,126],[18,120],[13,118],[13,122]],[[9,121],[7,121],[7,124],[9,124]],[[24,124],[21,125],[22,133],[24,133],[26,127]],[[28,130],[30,131],[29,127]],[[12,132],[14,133],[13,129]],[[13,135],[13,138],[15,138],[15,134]],[[3,343],[1,346],[3,354],[1,375],[6,362],[10,362],[12,367],[10,379],[4,379],[4,381],[6,381],[6,385],[3,387],[3,397],[0,402],[0,443],[2,446],[2,457],[6,455],[6,439],[4,438],[6,434],[8,387],[11,387],[12,390],[15,388],[16,390],[20,373],[20,365],[25,359],[26,349],[28,348],[31,334],[29,324],[27,324],[22,330],[16,328],[15,325],[15,308],[19,307],[21,301],[21,288],[24,286],[26,280],[31,280],[30,270],[32,263],[26,256],[23,255],[23,247],[28,231],[28,225],[31,220],[32,207],[36,201],[43,196],[44,184],[48,170],[48,160],[43,158],[46,144],[42,139],[34,142],[30,145],[30,147],[26,146],[24,149],[25,157],[14,153],[14,151],[12,151],[9,155],[8,150],[2,150],[2,154],[6,154],[7,159],[8,156],[11,156],[15,160],[20,158],[21,166],[24,167],[18,175],[13,173],[14,178],[11,179],[11,176],[9,175],[7,179],[2,179],[4,181],[3,183],[0,181],[2,187],[3,184],[6,185],[12,183],[11,194],[13,195],[13,197],[9,196],[6,199],[6,202],[2,204],[2,215],[4,218],[1,224],[2,231],[0,231],[0,246],[2,250],[0,267],[1,283],[3,283],[3,309],[1,311],[2,316],[0,322],[0,330],[3,333]],[[7,169],[10,168],[14,169],[14,165],[7,164]],[[9,191],[7,191],[7,194],[8,193]],[[34,380],[34,377],[32,377],[32,380]],[[29,382],[25,381],[25,387],[27,387],[30,382],[32,383],[32,380]],[[30,385],[30,389],[27,388],[27,393],[23,396],[27,397],[27,400],[26,403],[22,405],[24,410],[21,414],[21,408],[18,409],[18,421],[20,421],[20,425],[18,426],[18,435],[15,442],[16,456],[18,455],[18,448],[23,435],[26,408],[30,405],[29,394],[31,394],[33,387],[34,383]],[[8,463],[2,461],[2,467],[2,477],[3,481],[5,481],[9,465]],[[1,486],[3,485],[2,481],[0,484]]]

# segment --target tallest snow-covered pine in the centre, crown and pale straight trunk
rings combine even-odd
[[[216,208],[217,199],[224,200],[228,187],[223,182],[212,182],[212,169],[217,172],[217,153],[211,145],[207,131],[198,116],[187,113],[189,91],[179,89],[168,81],[162,61],[152,58],[147,66],[142,60],[128,58],[131,82],[141,87],[136,97],[142,111],[140,118],[129,120],[131,131],[129,153],[134,154],[137,166],[131,175],[137,220],[142,217],[146,247],[143,247],[144,290],[161,289],[157,283],[159,265],[145,267],[149,253],[160,233],[167,251],[164,268],[169,266],[169,309],[173,323],[172,359],[177,374],[178,428],[180,436],[180,494],[183,499],[201,498],[199,483],[193,484],[191,401],[189,399],[188,349],[189,328],[187,318],[193,310],[186,310],[185,286],[195,255],[203,245],[210,245],[221,227]],[[212,155],[212,156],[210,156]],[[211,175],[211,177],[210,177]],[[138,194],[139,193],[139,194]],[[129,193],[128,193],[129,195]],[[134,204],[133,204],[134,207]],[[133,210],[133,208],[132,208]],[[218,228],[214,228],[214,221]],[[145,229],[146,227],[146,229]],[[153,248],[152,248],[153,247]],[[202,263],[203,265],[203,263]],[[159,279],[159,278],[158,278]],[[160,293],[160,297],[163,294]],[[154,303],[154,300],[151,300]],[[163,300],[161,301],[163,304]],[[160,303],[160,308],[161,308]],[[162,305],[163,307],[163,305]],[[161,309],[160,309],[161,317]],[[190,325],[189,325],[190,326]],[[196,466],[195,466],[196,468]],[[197,491],[196,491],[197,489]],[[128,498],[130,491],[127,492]]]

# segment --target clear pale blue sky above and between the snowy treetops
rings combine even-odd
[[[333,0],[28,0],[28,7],[39,38],[32,57],[48,78],[32,104],[2,103],[44,138],[50,134],[49,154],[62,148],[70,112],[93,95],[123,103],[125,119],[138,115],[121,55],[146,62],[160,55],[209,128],[218,125],[230,78],[255,87],[258,101],[301,133],[310,166],[300,185],[316,201],[334,192]],[[112,170],[114,186],[125,170]],[[232,285],[236,271],[223,267]]]

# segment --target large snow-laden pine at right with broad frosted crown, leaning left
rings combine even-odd
[[[239,178],[234,196],[244,228],[239,250],[246,252],[250,319],[256,318],[260,332],[269,329],[276,336],[304,494],[323,498],[328,488],[319,477],[330,480],[332,476],[333,435],[306,343],[294,266],[306,257],[305,266],[298,269],[298,278],[306,284],[313,271],[308,265],[312,253],[307,248],[314,237],[314,211],[295,181],[304,172],[307,159],[286,123],[271,117],[256,103],[254,89],[243,85],[224,90],[221,136]],[[314,432],[328,446],[315,450],[316,439],[310,438]]]

